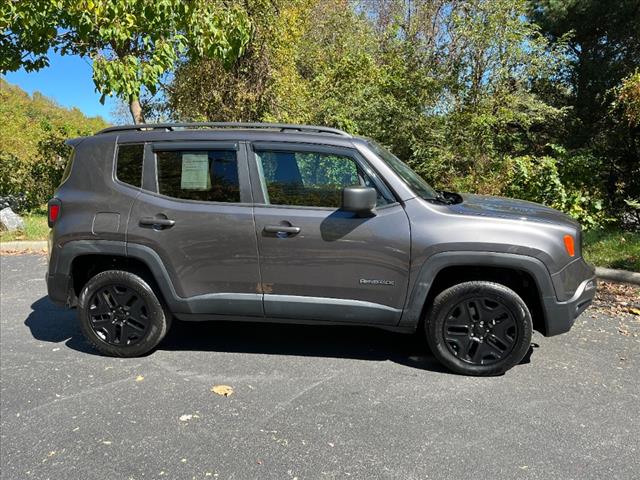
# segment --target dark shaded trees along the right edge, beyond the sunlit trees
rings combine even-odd
[[[558,142],[600,159],[590,174],[600,178],[605,208],[626,227],[636,218],[637,227],[625,200],[640,199],[638,2],[535,0],[530,5],[530,17],[551,44],[567,42],[571,51],[566,75],[554,79],[566,86],[554,104],[571,107]]]

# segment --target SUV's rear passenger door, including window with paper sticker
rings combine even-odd
[[[244,152],[232,142],[145,147],[127,248],[155,252],[183,312],[263,315]]]

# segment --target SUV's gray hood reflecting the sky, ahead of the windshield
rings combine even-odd
[[[462,194],[462,202],[449,208],[460,215],[506,218],[540,223],[571,224],[579,228],[569,215],[539,203],[516,200],[514,198],[492,197],[489,195]]]

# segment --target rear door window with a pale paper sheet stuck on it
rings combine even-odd
[[[204,202],[240,202],[234,150],[156,152],[158,192]]]

